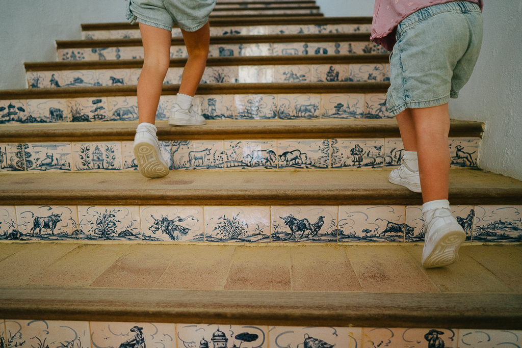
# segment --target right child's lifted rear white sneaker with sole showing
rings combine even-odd
[[[449,202],[441,200],[428,203],[435,202],[441,202],[441,205],[424,211],[424,268],[451,265],[458,259],[458,249],[466,239],[466,233],[449,210]]]

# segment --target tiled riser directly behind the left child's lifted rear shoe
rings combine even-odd
[[[477,167],[479,138],[450,138],[452,167]],[[397,138],[161,141],[171,170],[396,167]],[[0,172],[137,171],[132,141],[0,143]]]

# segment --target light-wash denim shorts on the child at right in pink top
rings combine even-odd
[[[396,38],[386,98],[390,116],[458,97],[479,56],[482,13],[467,1],[425,7],[399,23]]]

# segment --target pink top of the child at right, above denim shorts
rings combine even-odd
[[[373,10],[372,36],[370,40],[392,51],[395,32],[399,23],[421,8],[453,2],[455,0],[375,0]],[[483,0],[466,0],[484,6]]]

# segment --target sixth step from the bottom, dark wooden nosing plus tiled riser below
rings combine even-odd
[[[141,39],[56,41],[58,61],[143,58]],[[226,35],[210,38],[210,57],[309,54],[383,54],[369,33]],[[186,57],[182,38],[172,38],[171,57]]]

